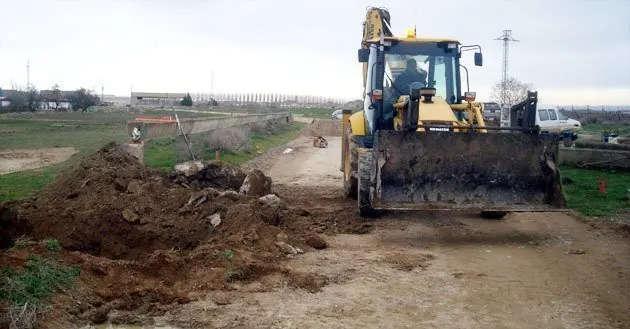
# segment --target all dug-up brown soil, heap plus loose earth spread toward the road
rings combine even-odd
[[[109,143],[34,199],[0,205],[0,233],[2,241],[55,238],[62,263],[81,266],[78,292],[57,295],[64,306],[48,320],[145,324],[204,292],[272,273],[314,291],[324,277],[282,260],[326,247],[317,234],[370,229],[340,191],[278,186],[260,198],[238,193],[245,177],[221,162],[169,174]],[[17,266],[37,252],[46,251],[0,252],[0,262]]]

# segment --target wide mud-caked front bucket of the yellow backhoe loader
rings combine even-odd
[[[552,134],[379,131],[375,209],[564,210]]]

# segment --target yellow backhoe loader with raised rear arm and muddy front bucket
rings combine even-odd
[[[481,47],[417,38],[415,28],[395,37],[389,23],[386,9],[368,9],[358,51],[363,110],[344,110],[342,118],[344,190],[361,216],[564,210],[559,138],[535,126],[537,94],[511,109],[510,127],[486,126],[460,76],[466,51],[476,50],[482,65]]]

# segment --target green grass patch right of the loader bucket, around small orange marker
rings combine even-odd
[[[569,208],[587,216],[614,216],[630,209],[630,173],[561,168],[561,176],[573,182],[563,184]],[[606,193],[600,193],[599,182],[606,181]]]

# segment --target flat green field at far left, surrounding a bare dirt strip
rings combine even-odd
[[[46,168],[0,175],[0,202],[32,196],[57,173],[76,164],[109,141],[128,139],[126,122],[135,117],[156,117],[171,112],[147,110],[142,112],[36,112],[5,113],[0,115],[0,148],[32,149],[74,147],[77,153],[69,161]],[[215,117],[216,114],[178,112],[185,117]],[[11,133],[2,133],[12,131]]]

